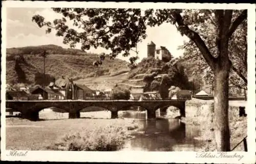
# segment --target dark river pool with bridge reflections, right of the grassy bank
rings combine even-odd
[[[135,118],[140,124],[125,150],[182,151],[185,147],[186,151],[194,151],[197,146],[194,137],[199,135],[198,127],[185,125],[179,119],[146,120],[145,111],[125,111],[119,113],[119,117]]]

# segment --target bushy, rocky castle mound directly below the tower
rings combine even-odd
[[[156,74],[168,74],[167,87],[178,86],[182,89],[200,90],[202,86],[203,72],[195,72],[195,67],[198,66],[196,62],[184,60],[182,57],[177,61],[176,67],[169,67],[169,65],[161,60],[155,58],[144,58],[138,63],[137,68],[132,69],[127,74],[127,79],[122,81],[122,84],[132,86],[145,86],[146,90],[155,90],[156,86],[160,85],[161,80],[155,79],[151,83],[145,83],[143,78],[151,76],[153,72]],[[171,80],[172,79],[172,80]]]

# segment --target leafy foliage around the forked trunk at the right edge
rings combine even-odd
[[[240,11],[234,12],[239,14]],[[205,42],[206,46],[209,47],[209,51],[214,56],[217,56],[217,45],[216,45],[216,23],[211,17],[210,20],[204,21],[200,24],[194,24],[191,26],[195,32],[199,33]],[[184,49],[183,61],[195,63],[193,75],[196,73],[202,73],[202,78],[205,84],[212,84],[214,80],[214,74],[206,63],[202,56],[202,52],[197,45],[189,40],[184,42],[184,45],[180,46],[179,49]],[[232,63],[229,81],[231,85],[239,88],[247,89],[247,21],[243,21],[238,29],[231,36],[229,41],[229,59]]]

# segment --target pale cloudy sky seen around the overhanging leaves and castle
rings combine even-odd
[[[62,17],[50,8],[7,8],[7,48],[46,44],[69,48],[69,45],[62,43],[61,37],[55,36],[54,31],[46,34],[45,28],[39,28],[35,22],[32,22],[32,16],[35,14],[45,17],[46,21],[53,21]],[[68,22],[69,26],[71,24]],[[184,40],[188,40],[185,36],[180,35],[174,25],[167,23],[153,28],[148,27],[146,34],[146,39],[138,43],[138,62],[147,57],[147,43],[151,41],[156,44],[156,47],[165,46],[174,57],[179,57],[183,54],[183,51],[177,50],[178,46],[182,45]],[[77,45],[76,48],[80,49],[80,46]],[[101,53],[108,51],[100,47],[97,49],[90,48],[88,52]],[[131,51],[131,56],[135,55],[136,53]],[[120,54],[117,58],[128,61],[130,57],[122,57]]]

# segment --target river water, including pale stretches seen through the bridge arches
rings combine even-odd
[[[119,118],[135,119],[138,129],[132,133],[122,150],[140,151],[200,151],[200,142],[194,138],[200,136],[200,127],[184,124],[173,116],[148,120],[146,111],[119,111]],[[55,113],[43,110],[39,113],[42,119],[68,119],[68,113]],[[81,112],[83,118],[109,118],[110,112]]]

